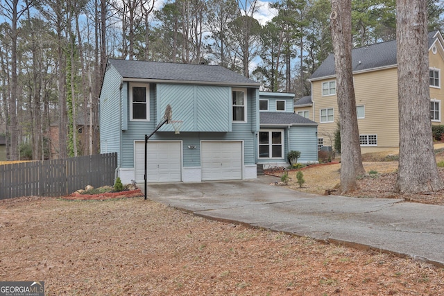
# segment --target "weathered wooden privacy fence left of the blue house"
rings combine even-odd
[[[62,196],[92,185],[114,184],[117,153],[0,166],[0,200],[19,196]]]

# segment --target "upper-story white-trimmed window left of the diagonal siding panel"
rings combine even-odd
[[[150,120],[149,85],[130,83],[130,120]]]

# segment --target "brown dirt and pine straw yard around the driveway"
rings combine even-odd
[[[394,164],[366,163],[379,175],[359,180],[371,186],[357,195],[388,196],[393,172],[382,168]],[[335,166],[322,167],[333,183]],[[311,169],[302,190],[332,188]],[[15,198],[0,211],[0,280],[44,281],[46,295],[444,295],[434,265],[205,220],[143,197]]]

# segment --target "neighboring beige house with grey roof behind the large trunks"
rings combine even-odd
[[[439,31],[429,33],[430,117],[432,124],[444,124],[444,41]],[[398,68],[396,41],[382,42],[352,50],[353,79],[361,152],[396,150],[398,136]],[[318,123],[318,148],[333,146],[338,121],[334,56],[330,55],[313,73],[311,101],[307,97],[295,103],[295,112],[309,114]]]

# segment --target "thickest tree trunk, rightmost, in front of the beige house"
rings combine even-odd
[[[429,96],[427,1],[396,2],[400,160],[395,190],[443,189],[432,141]]]

